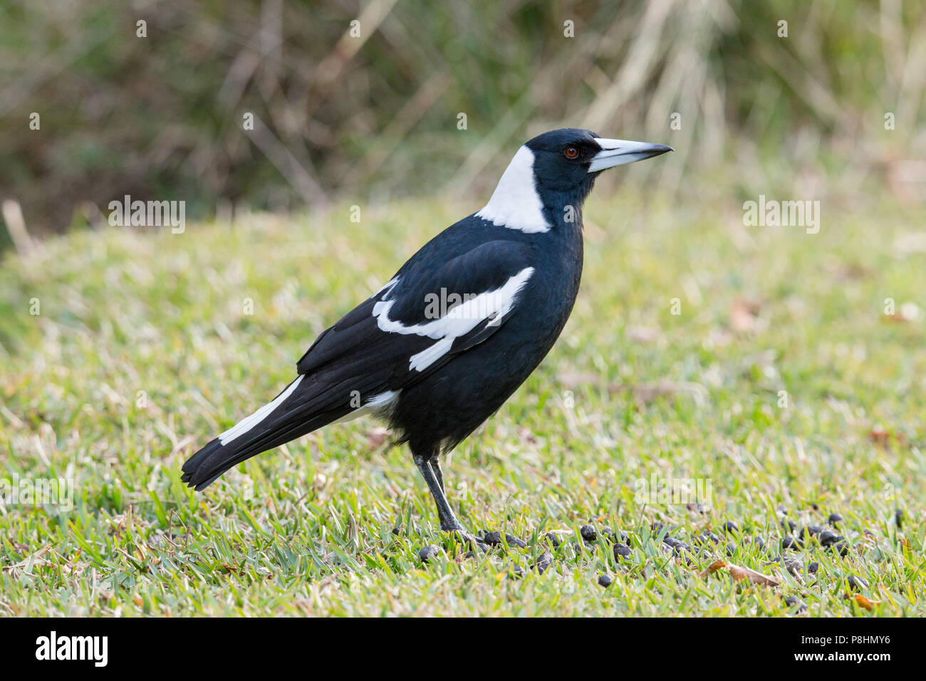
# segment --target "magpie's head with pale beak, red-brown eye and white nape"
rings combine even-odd
[[[671,146],[601,137],[563,128],[537,135],[515,154],[489,203],[476,213],[522,232],[547,232],[567,206],[582,208],[602,170],[653,158]]]

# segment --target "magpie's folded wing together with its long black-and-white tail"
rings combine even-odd
[[[280,395],[187,460],[181,480],[203,489],[262,451],[388,404],[396,391],[507,322],[533,276],[532,262],[530,247],[508,241],[482,244],[437,267],[432,254],[409,260],[319,335]]]

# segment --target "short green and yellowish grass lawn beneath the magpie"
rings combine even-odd
[[[76,232],[28,259],[8,253],[0,477],[73,479],[75,504],[0,507],[0,612],[785,615],[795,596],[809,616],[922,616],[924,322],[911,306],[907,321],[885,316],[884,299],[926,307],[926,254],[902,238],[926,214],[824,204],[807,234],[745,228],[735,203],[608,194],[589,202],[582,292],[557,346],[444,468],[464,523],[529,542],[469,560],[437,530],[407,450],[377,446],[370,422],[268,452],[203,494],[181,485],[180,465],[471,206]],[[652,475],[709,481],[709,511],[641,503],[637,481]],[[798,525],[842,514],[848,555],[811,541],[786,551],[802,577],[768,564],[780,505]],[[606,540],[551,549],[543,537],[590,518],[627,531],[631,558],[615,561]],[[689,543],[733,521],[771,550],[727,558],[721,543],[686,565],[654,521]],[[422,564],[432,543],[444,554]],[[556,562],[539,574],[544,550]],[[782,584],[700,576],[717,558]],[[870,612],[844,598],[849,575],[867,581]]]

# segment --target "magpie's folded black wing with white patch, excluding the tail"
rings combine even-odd
[[[437,268],[412,259],[319,335],[298,371],[336,366],[346,380],[386,372],[388,389],[410,385],[494,334],[533,274],[531,247],[511,241],[483,243]]]

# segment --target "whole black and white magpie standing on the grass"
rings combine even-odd
[[[440,456],[502,406],[563,330],[595,177],[671,150],[571,128],[534,137],[481,210],[319,335],[295,380],[197,451],[182,481],[201,490],[256,454],[372,413],[408,444],[441,528],[465,535],[444,495]]]

